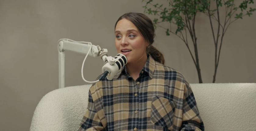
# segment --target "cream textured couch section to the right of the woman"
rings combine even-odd
[[[205,131],[256,129],[256,83],[190,85]]]

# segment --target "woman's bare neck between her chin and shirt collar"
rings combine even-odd
[[[126,64],[126,71],[129,73],[134,80],[137,80],[139,77],[140,71],[144,67],[145,63],[147,62],[148,57],[147,55],[143,55],[139,60],[136,62],[129,62]]]

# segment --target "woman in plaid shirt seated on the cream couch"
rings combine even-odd
[[[117,20],[115,35],[116,50],[128,62],[113,80],[92,85],[79,130],[204,130],[189,83],[164,66],[162,53],[151,46],[152,21],[126,13]]]

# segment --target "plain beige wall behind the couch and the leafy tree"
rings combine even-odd
[[[141,0],[129,1],[0,1],[0,128],[29,130],[41,98],[58,89],[57,41],[89,41],[117,54],[114,24],[126,12],[142,12]],[[255,8],[255,4],[254,4]],[[152,16],[150,16],[152,18]],[[256,15],[233,23],[223,40],[216,83],[256,83]],[[199,61],[204,83],[214,72],[214,46],[209,20],[197,16]],[[197,72],[185,44],[176,36],[156,30],[156,47],[166,66],[198,83]],[[85,55],[66,51],[66,86],[83,85],[81,66]],[[88,64],[90,63],[90,64]],[[102,60],[88,57],[84,78],[94,80]],[[90,75],[89,75],[90,74]]]

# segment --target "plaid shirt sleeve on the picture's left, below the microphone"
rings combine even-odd
[[[95,109],[91,91],[89,91],[88,106],[78,131],[105,131]]]

